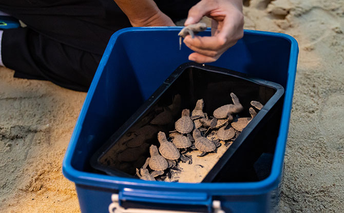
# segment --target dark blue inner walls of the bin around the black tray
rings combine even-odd
[[[124,124],[171,72],[187,62],[191,51],[184,45],[182,51],[179,51],[176,36],[179,30],[152,28],[139,32],[124,31],[118,37],[111,38],[95,76],[96,80],[92,83],[94,93],[84,120],[80,123],[81,132],[71,159],[74,169],[92,171],[88,159],[94,150],[99,149]],[[209,33],[206,31],[201,35]],[[174,40],[176,43],[169,42]],[[290,41],[283,37],[245,32],[235,46],[211,65],[246,73],[285,87],[290,49]],[[278,121],[280,118],[279,114]],[[272,140],[276,142],[276,138],[277,134]]]

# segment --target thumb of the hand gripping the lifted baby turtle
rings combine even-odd
[[[214,4],[209,4],[209,1],[200,1],[194,7],[190,8],[184,25],[196,24],[204,15],[207,15],[213,9]]]

